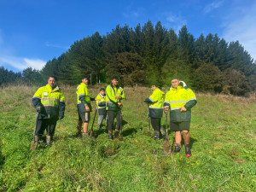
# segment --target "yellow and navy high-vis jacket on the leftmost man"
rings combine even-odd
[[[51,88],[49,84],[40,87],[32,97],[34,108],[41,107],[38,119],[58,119],[64,116],[65,97],[60,87]]]

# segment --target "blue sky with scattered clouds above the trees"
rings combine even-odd
[[[254,0],[0,0],[0,66],[41,69],[76,40],[148,20],[177,33],[186,25],[195,38],[238,40],[256,59]]]

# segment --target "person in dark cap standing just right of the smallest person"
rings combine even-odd
[[[113,76],[111,84],[106,88],[106,102],[107,102],[107,114],[108,114],[108,139],[113,139],[113,121],[116,118],[116,129],[114,131],[114,137],[119,136],[121,127],[121,100],[125,98],[124,90],[118,85],[119,77]]]

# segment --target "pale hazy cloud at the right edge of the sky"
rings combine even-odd
[[[239,19],[231,20],[224,26],[224,39],[228,42],[239,41],[239,43],[256,59],[256,4],[247,10],[247,13]],[[227,21],[225,21],[227,23]]]

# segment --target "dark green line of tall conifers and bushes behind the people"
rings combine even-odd
[[[43,79],[54,75],[62,84],[73,85],[79,84],[84,74],[90,74],[91,83],[96,84],[109,82],[115,74],[123,86],[148,85],[152,81],[170,86],[175,75],[193,90],[236,96],[256,90],[256,64],[238,41],[228,43],[212,33],[195,38],[186,26],[177,34],[160,21],[154,26],[150,20],[143,26],[118,25],[106,35],[95,32],[75,41],[40,71],[29,67],[21,74],[1,67],[0,73],[15,75],[0,79],[0,84],[15,79],[45,84]]]

